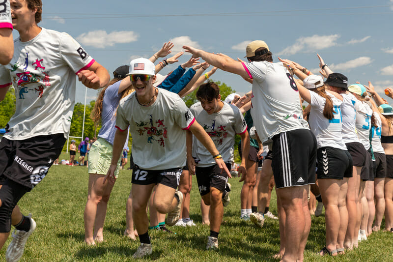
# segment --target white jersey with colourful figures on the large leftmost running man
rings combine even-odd
[[[94,63],[67,33],[42,29],[27,42],[14,41],[14,57],[0,66],[0,87],[15,88],[15,114],[4,137],[24,140],[68,137],[75,104],[76,75]]]

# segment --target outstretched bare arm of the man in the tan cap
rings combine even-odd
[[[203,50],[193,48],[191,46],[183,46],[186,52],[191,53],[194,58],[202,58],[209,64],[220,68],[221,70],[237,74],[244,79],[248,78],[249,75],[244,68],[243,64],[239,61],[233,60],[232,58],[228,58],[222,55],[215,55],[212,53],[205,52]]]

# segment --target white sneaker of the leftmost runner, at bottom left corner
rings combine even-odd
[[[17,262],[22,258],[23,252],[25,251],[26,242],[28,241],[28,237],[31,233],[34,232],[35,227],[37,226],[35,221],[31,218],[31,214],[28,214],[27,217],[30,219],[31,223],[30,230],[28,232],[22,230],[19,231],[17,229],[14,230],[14,232],[12,233],[12,241],[9,244],[7,251],[5,252],[5,260],[7,262]]]

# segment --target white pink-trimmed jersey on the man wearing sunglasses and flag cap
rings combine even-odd
[[[195,121],[184,101],[158,88],[151,106],[141,106],[135,92],[120,100],[116,127],[130,126],[132,156],[141,169],[167,170],[186,165],[186,129]]]

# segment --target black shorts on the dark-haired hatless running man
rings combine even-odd
[[[230,164],[225,163],[228,170],[230,170]],[[221,169],[217,165],[210,167],[196,167],[195,174],[197,175],[199,194],[204,196],[210,192],[210,187],[217,188],[224,192],[226,182],[228,182],[228,175],[225,172],[221,174]]]

